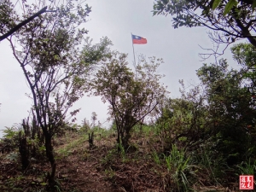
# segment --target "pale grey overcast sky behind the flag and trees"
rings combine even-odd
[[[162,82],[168,86],[170,96],[179,96],[178,79],[185,84],[196,84],[198,79],[195,70],[203,62],[213,62],[214,58],[201,62],[199,53],[204,48],[212,48],[207,37],[207,28],[172,28],[170,16],[153,16],[153,0],[87,0],[91,7],[90,20],[84,25],[89,30],[88,36],[98,43],[99,39],[107,36],[113,42],[112,49],[128,53],[128,61],[132,67],[133,55],[131,32],[147,38],[148,44],[135,44],[136,55],[156,56],[163,58],[165,64],[159,68],[159,73],[166,74]],[[20,123],[28,116],[32,101],[26,96],[30,93],[21,68],[13,58],[7,40],[0,43],[0,130],[4,126]],[[231,59],[230,49],[223,55],[230,66],[237,67]],[[103,123],[108,118],[108,105],[104,105],[100,97],[84,97],[74,105],[82,108],[77,115],[77,123],[82,119],[90,119],[91,113],[96,112]],[[104,126],[108,127],[109,123]],[[0,132],[1,136],[1,132]]]

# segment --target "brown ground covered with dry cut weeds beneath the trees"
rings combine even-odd
[[[58,192],[164,192],[178,189],[177,184],[181,180],[175,182],[175,163],[169,168],[166,166],[166,160],[170,158],[165,159],[159,153],[161,143],[153,134],[133,136],[133,144],[128,151],[120,147],[118,150],[116,137],[111,132],[96,132],[95,146],[91,149],[88,138],[88,133],[79,132],[67,132],[62,137],[55,137],[55,178],[61,186]],[[44,157],[32,161],[25,172],[15,151],[0,154],[0,160],[1,192],[45,191],[45,175],[49,172],[49,165]],[[202,173],[202,178],[207,178],[206,172]],[[202,188],[198,183],[194,185],[191,187],[195,191],[225,191],[224,188]]]

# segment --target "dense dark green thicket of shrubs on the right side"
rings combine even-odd
[[[249,158],[255,160],[255,72],[250,71],[255,66],[254,48],[251,44],[237,44],[232,52],[241,69],[229,69],[225,60],[204,64],[197,71],[200,85],[187,91],[181,82],[181,98],[166,99],[158,106],[154,127],[164,141],[165,152],[171,153],[164,159],[167,170],[173,169],[174,161],[186,165],[187,159],[175,159],[183,155],[176,154],[173,143],[186,149],[193,157],[188,162],[193,160],[200,166],[210,183],[222,183],[227,176],[224,171],[235,174],[237,167],[243,172],[254,169],[250,162],[241,163]],[[152,157],[159,164],[159,156]],[[185,185],[182,175],[180,183]]]

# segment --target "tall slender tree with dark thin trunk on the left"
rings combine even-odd
[[[52,168],[48,177],[49,189],[55,189],[52,137],[61,132],[67,120],[75,120],[79,109],[71,112],[69,109],[84,96],[85,83],[96,65],[102,64],[109,56],[111,42],[102,38],[99,44],[92,45],[90,38],[84,37],[87,31],[81,26],[90,14],[88,4],[73,0],[47,3],[22,1],[20,5],[24,13],[20,15],[15,10],[10,13],[9,22],[15,23],[16,20],[25,20],[42,4],[49,5],[50,11],[21,27],[9,39],[9,44],[31,90],[32,109],[44,133],[46,156]],[[7,30],[11,27],[5,23],[0,25]],[[23,142],[26,148],[26,139]]]

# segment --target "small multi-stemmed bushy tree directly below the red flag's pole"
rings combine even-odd
[[[161,75],[156,74],[161,60],[150,58],[148,62],[142,58],[143,65],[137,65],[135,75],[127,67],[126,57],[113,52],[90,86],[95,96],[102,96],[102,101],[110,104],[117,142],[128,148],[133,126],[154,110],[166,89],[160,85]]]

